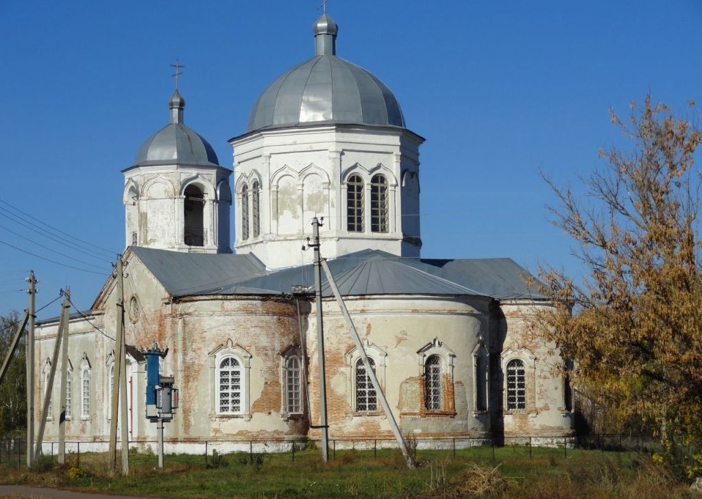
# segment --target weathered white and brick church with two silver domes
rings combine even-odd
[[[168,124],[123,170],[130,443],[156,439],[141,353],[153,342],[169,349],[161,373],[180,390],[167,450],[201,452],[204,441],[289,448],[319,437],[314,274],[311,251],[300,249],[314,217],[403,434],[571,434],[570,390],[555,370],[563,360],[529,333],[549,302],[509,258],[421,258],[425,139],[377,76],[337,56],[329,15],[313,32],[314,57],[274,79],[246,132],[230,140],[233,170],[185,125],[178,91]],[[91,310],[69,321],[69,449],[107,446],[117,291],[112,276]],[[392,440],[326,281],[322,292],[329,438]],[[37,422],[57,333],[58,319],[37,326]],[[52,393],[45,441],[58,435],[58,382]]]

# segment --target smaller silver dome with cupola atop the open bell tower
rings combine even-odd
[[[219,166],[217,154],[210,143],[183,124],[185,99],[176,91],[168,103],[171,123],[145,140],[136,153],[134,166],[174,163]]]

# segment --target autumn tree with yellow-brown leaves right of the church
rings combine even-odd
[[[699,443],[700,129],[650,96],[628,119],[611,119],[633,147],[600,151],[604,166],[581,179],[585,196],[545,177],[559,200],[554,222],[576,241],[586,275],[541,269],[555,307],[538,317],[538,333],[618,421],[640,422],[668,448]]]

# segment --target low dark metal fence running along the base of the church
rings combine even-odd
[[[571,437],[543,436],[509,436],[509,437],[415,437],[406,436],[406,443],[415,458],[421,458],[425,451],[441,451],[444,455],[456,457],[456,451],[465,448],[482,448],[486,453],[495,456],[495,448],[512,448],[512,451],[531,457],[534,449],[550,449],[557,455],[567,458],[569,451],[574,449],[589,449],[609,452],[641,451],[653,452],[660,446],[645,435],[635,434],[592,434]],[[121,444],[118,444],[121,445]],[[319,448],[321,442],[314,439],[295,441],[263,441],[263,440],[201,440],[201,441],[166,441],[164,453],[202,455],[205,465],[211,465],[213,456],[239,453],[242,457],[248,454],[250,462],[254,455],[278,453],[287,454],[294,461],[296,453],[312,446]],[[109,444],[107,441],[66,441],[66,452],[72,455],[74,463],[80,466],[81,453],[105,453]],[[155,452],[157,442],[150,440],[130,441],[128,446],[132,451]],[[330,439],[329,456],[336,458],[337,452],[367,451],[364,457],[369,458],[370,451],[377,457],[382,449],[397,448],[395,439]],[[22,467],[26,464],[27,439],[0,439],[0,465]],[[42,446],[44,455],[55,455],[58,444],[45,441]],[[541,451],[540,451],[541,452]],[[429,457],[430,453],[425,453]]]

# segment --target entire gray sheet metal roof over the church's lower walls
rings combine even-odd
[[[312,286],[312,265],[266,271],[254,255],[178,253],[132,248],[173,296],[280,295]],[[509,258],[420,260],[364,250],[329,260],[342,295],[472,295],[545,299]],[[322,294],[331,296],[322,274]]]

